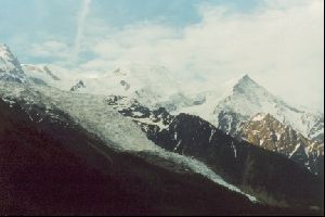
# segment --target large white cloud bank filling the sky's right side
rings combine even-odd
[[[322,0],[265,0],[249,13],[202,4],[198,12],[202,21],[181,29],[155,22],[119,29],[92,24],[105,34],[87,40],[98,56],[91,66],[157,64],[211,85],[248,73],[291,103],[324,106]]]

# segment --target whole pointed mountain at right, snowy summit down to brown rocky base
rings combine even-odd
[[[286,153],[284,153],[284,150],[274,148],[274,144],[265,143],[262,148],[285,154],[289,158],[296,158],[301,165],[306,165],[307,168],[316,174],[318,173],[318,166],[315,166],[318,165],[318,159],[316,161],[316,158],[324,157],[324,151],[317,151],[324,150],[324,114],[308,112],[288,105],[253,81],[248,75],[229,81],[221,88],[221,92],[220,90],[208,91],[204,93],[206,100],[202,104],[180,107],[178,113],[198,115],[222,131],[239,140],[248,139],[249,142],[257,145],[268,139],[272,140],[274,129],[262,124],[261,126],[252,124],[251,120],[259,116],[260,113],[270,114],[277,120],[276,125],[281,125],[283,128],[283,130],[277,130],[277,137],[287,138],[289,132],[284,129],[288,128],[295,131],[296,135],[300,135],[299,138],[304,141],[304,144],[298,149],[299,141],[297,138],[291,138],[282,141],[282,144],[277,144],[282,148],[284,145],[289,146]],[[273,120],[270,119],[270,122],[272,123]],[[265,138],[257,139],[253,136],[256,133],[255,130],[262,130],[262,137]],[[307,155],[301,151],[306,146],[309,146],[308,149],[310,150]],[[297,156],[290,156],[290,153],[296,148],[301,152],[297,153]]]

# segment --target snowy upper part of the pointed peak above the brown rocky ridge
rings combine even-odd
[[[235,131],[235,133],[239,128],[237,122],[233,122],[231,118],[225,120],[224,114],[230,117],[237,114],[240,122],[244,123],[258,113],[271,114],[309,139],[314,139],[310,132],[312,129],[320,128],[323,118],[322,114],[312,114],[288,105],[253,81],[248,75],[238,80],[233,87],[232,93],[219,102],[213,111],[218,126],[229,132]],[[231,127],[227,128],[229,126]],[[324,133],[324,128],[321,130],[323,132],[320,131],[320,133]],[[324,143],[324,141],[322,142]]]

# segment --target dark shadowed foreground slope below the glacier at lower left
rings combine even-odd
[[[183,168],[166,169],[161,165],[178,165],[159,156],[151,155],[160,162],[155,166],[116,152],[68,115],[57,117],[32,122],[18,104],[0,100],[2,215],[236,215],[266,208]]]

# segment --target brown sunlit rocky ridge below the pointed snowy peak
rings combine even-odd
[[[270,114],[258,114],[240,127],[240,138],[263,149],[281,153],[315,174],[322,174],[324,145],[309,140]]]

